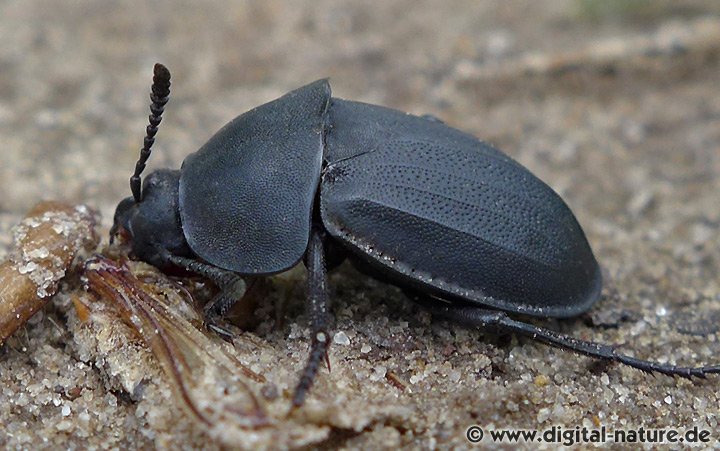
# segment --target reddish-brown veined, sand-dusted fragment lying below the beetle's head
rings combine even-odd
[[[127,265],[101,256],[88,260],[85,277],[89,289],[110,300],[152,349],[193,418],[208,428],[268,424],[248,382],[265,379],[193,325],[197,318],[188,317],[177,289],[144,282]]]

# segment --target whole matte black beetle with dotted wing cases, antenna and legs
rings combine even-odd
[[[313,336],[294,406],[329,344],[327,267],[345,256],[445,318],[648,372],[720,372],[635,359],[510,318],[575,316],[600,297],[600,268],[565,202],[477,138],[432,117],[331,97],[327,80],[238,116],[180,170],[150,174],[141,192],[169,94],[170,73],[156,64],[133,197],[118,205],[111,237],[125,230],[138,258],[213,280],[221,294],[206,307],[209,325],[232,306],[240,276],[304,259]]]

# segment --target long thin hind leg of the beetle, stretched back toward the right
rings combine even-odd
[[[620,362],[647,373],[661,373],[687,379],[692,377],[705,378],[708,374],[720,373],[720,365],[691,368],[636,359],[635,357],[617,352],[614,346],[579,340],[550,329],[516,321],[510,318],[505,312],[499,310],[447,304],[432,298],[424,299],[416,297],[415,300],[428,308],[432,314],[442,316],[452,321],[475,327],[497,327],[508,332],[528,336],[534,340],[540,340],[548,345],[561,349],[568,349],[599,359]]]

